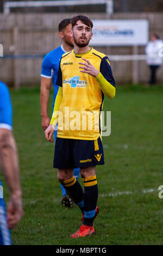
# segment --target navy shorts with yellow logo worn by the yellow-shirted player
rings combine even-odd
[[[55,141],[53,167],[73,169],[104,164],[101,138],[96,141],[58,138]]]

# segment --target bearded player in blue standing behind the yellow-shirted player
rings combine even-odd
[[[51,81],[54,87],[53,94],[53,108],[55,103],[55,98],[58,93],[59,86],[57,86],[57,76],[59,70],[59,62],[62,54],[69,52],[73,49],[73,38],[70,35],[71,30],[71,19],[62,20],[59,23],[59,36],[62,39],[62,45],[56,48],[55,50],[46,54],[42,61],[41,69],[41,92],[40,92],[40,104],[41,104],[41,125],[42,129],[45,131],[49,126],[50,119],[48,117],[48,101],[49,93],[51,87]],[[57,130],[54,131],[54,139],[57,137]],[[79,178],[79,168],[74,169],[74,176],[76,179]],[[62,188],[62,205],[72,207],[72,199],[67,196],[65,188],[61,185]]]

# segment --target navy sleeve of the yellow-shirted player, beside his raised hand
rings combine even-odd
[[[111,70],[111,66],[110,66],[110,62],[107,56],[105,56],[102,61],[101,61],[101,65],[100,65],[100,72],[101,74],[105,77],[105,79],[112,84],[112,86],[115,87],[115,80],[114,77],[112,75],[112,70]]]

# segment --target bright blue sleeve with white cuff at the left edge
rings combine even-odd
[[[0,128],[12,128],[12,104],[8,87],[0,82]]]

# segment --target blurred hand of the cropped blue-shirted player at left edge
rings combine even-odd
[[[8,228],[15,228],[18,222],[21,220],[23,216],[23,208],[22,208],[22,197],[20,194],[11,194],[11,199],[8,204],[7,209],[7,222]]]

